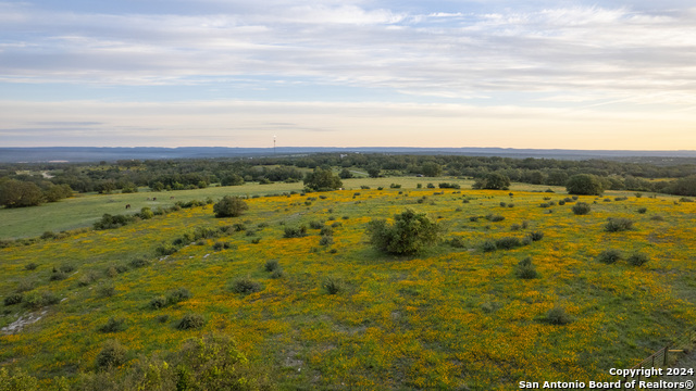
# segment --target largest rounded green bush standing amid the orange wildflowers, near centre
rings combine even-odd
[[[414,254],[425,247],[436,244],[442,227],[425,213],[410,209],[394,216],[394,224],[373,219],[368,224],[368,235],[377,249],[393,254]]]

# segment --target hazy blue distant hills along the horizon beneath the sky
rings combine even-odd
[[[408,153],[408,154],[459,154],[472,156],[544,157],[559,160],[626,160],[627,157],[696,159],[696,151],[594,151],[562,149],[512,149],[512,148],[400,148],[400,147],[282,147],[273,148],[224,148],[224,147],[48,147],[48,148],[0,148],[0,163],[34,162],[99,162],[116,160],[201,159],[295,155],[318,152],[343,153]]]

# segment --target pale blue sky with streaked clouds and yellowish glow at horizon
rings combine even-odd
[[[696,150],[692,0],[0,0],[0,147]]]

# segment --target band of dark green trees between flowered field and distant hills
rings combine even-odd
[[[687,161],[688,162],[688,161]],[[52,202],[73,191],[111,193],[206,188],[211,184],[297,182],[306,168],[339,171],[340,178],[362,172],[370,177],[418,175],[474,178],[478,184],[498,174],[510,181],[566,186],[579,174],[594,175],[608,190],[696,195],[696,164],[632,163],[607,160],[569,161],[499,156],[316,153],[245,159],[129,160],[95,164],[0,165],[0,205],[20,207]],[[46,175],[50,173],[50,175]],[[315,174],[313,174],[315,175]],[[500,179],[497,177],[497,180]],[[486,179],[488,178],[488,179]],[[670,178],[670,180],[652,180]],[[478,185],[481,186],[481,185]]]

